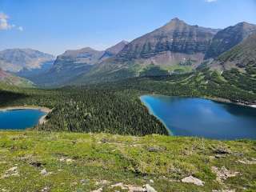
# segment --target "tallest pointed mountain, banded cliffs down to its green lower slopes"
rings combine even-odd
[[[115,57],[95,65],[90,73],[81,75],[75,83],[111,81],[147,74],[154,70],[166,74],[177,67],[197,67],[204,58],[218,30],[190,26],[178,18],[165,26],[127,44]],[[164,70],[162,70],[164,69]],[[151,70],[152,71],[152,70]]]

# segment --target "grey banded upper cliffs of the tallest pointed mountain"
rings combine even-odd
[[[205,54],[217,30],[190,26],[178,18],[172,19],[158,30],[130,42],[117,55],[117,61],[152,58],[162,52]]]

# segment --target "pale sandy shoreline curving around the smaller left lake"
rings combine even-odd
[[[42,112],[46,113],[38,120],[38,125],[42,125],[47,122],[46,116],[49,114],[52,110],[44,107],[44,106],[6,106],[6,107],[0,107],[0,111],[6,111],[6,110],[41,110]]]

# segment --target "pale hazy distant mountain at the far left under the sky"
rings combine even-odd
[[[10,49],[0,51],[0,67],[2,70],[18,72],[21,70],[41,69],[46,62],[54,60],[51,54],[31,49]]]

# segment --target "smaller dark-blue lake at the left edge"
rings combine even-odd
[[[45,114],[41,110],[0,111],[0,130],[23,130],[35,126]]]

